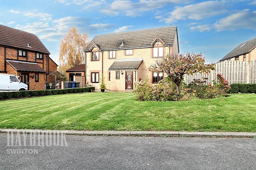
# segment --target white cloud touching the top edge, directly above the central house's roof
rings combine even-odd
[[[107,15],[117,16],[125,14],[126,16],[136,17],[145,11],[152,11],[163,8],[170,3],[188,3],[189,0],[140,0],[135,3],[131,0],[114,0],[110,5],[100,11]]]

